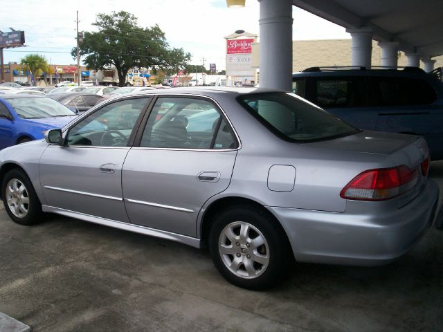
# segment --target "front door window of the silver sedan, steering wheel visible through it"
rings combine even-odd
[[[148,100],[135,98],[105,105],[69,129],[66,145],[125,147]]]

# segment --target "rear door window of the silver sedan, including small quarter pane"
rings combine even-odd
[[[159,98],[147,120],[141,147],[233,149],[237,143],[212,102]]]

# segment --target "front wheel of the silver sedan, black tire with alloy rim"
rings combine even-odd
[[[14,187],[17,189],[14,190]],[[33,225],[42,218],[42,204],[28,176],[21,169],[11,169],[6,173],[1,184],[1,196],[6,212],[15,223]]]

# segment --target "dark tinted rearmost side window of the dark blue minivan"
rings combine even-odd
[[[433,86],[413,77],[371,77],[372,106],[431,104],[437,99]]]

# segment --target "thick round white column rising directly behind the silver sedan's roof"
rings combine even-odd
[[[260,3],[260,87],[292,89],[292,1]]]

